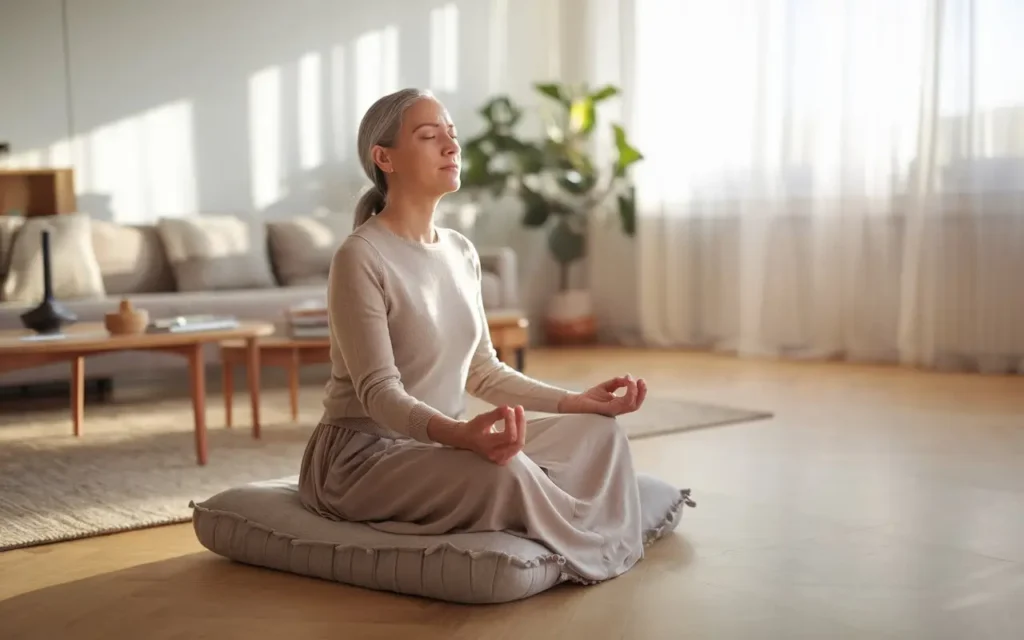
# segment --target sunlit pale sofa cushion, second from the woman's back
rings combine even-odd
[[[276,286],[261,220],[216,214],[161,218],[157,228],[178,291]]]

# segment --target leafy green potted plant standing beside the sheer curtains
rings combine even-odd
[[[544,130],[536,139],[516,133],[523,111],[509,96],[489,99],[479,111],[484,130],[463,145],[464,188],[495,198],[512,196],[522,204],[522,223],[547,227],[548,248],[559,266],[559,290],[548,308],[546,327],[554,343],[586,342],[596,337],[590,293],[571,286],[572,266],[587,255],[593,220],[614,201],[618,222],[628,236],[636,231],[636,201],[629,172],[643,155],[626,130],[610,128],[610,153],[598,160],[598,105],[620,94],[608,85],[538,84],[535,89],[552,109],[544,112]]]

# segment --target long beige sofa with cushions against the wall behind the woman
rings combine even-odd
[[[102,323],[123,299],[151,318],[218,313],[272,322],[285,311],[324,302],[331,258],[351,229],[333,213],[260,219],[231,214],[159,218],[120,224],[84,213],[22,218],[0,215],[0,331],[23,329],[20,315],[43,292],[42,231],[49,231],[54,296],[79,323]],[[477,249],[488,310],[517,305],[516,256],[508,248]],[[215,347],[208,364],[218,361]],[[86,359],[86,378],[183,375],[180,358],[148,352]],[[0,387],[67,382],[68,365],[0,375]]]

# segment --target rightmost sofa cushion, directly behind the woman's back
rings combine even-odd
[[[266,223],[270,259],[282,285],[327,281],[331,260],[352,228],[350,216],[295,216]]]

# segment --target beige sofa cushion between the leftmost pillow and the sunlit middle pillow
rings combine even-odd
[[[174,271],[156,226],[93,219],[92,246],[108,295],[174,291]]]

